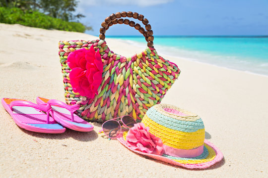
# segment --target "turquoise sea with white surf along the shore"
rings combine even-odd
[[[140,36],[107,37],[141,47],[147,44]],[[154,47],[162,55],[268,76],[268,36],[155,36]]]

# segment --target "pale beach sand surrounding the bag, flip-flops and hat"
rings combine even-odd
[[[43,96],[65,101],[58,42],[96,39],[82,33],[0,24],[0,98],[35,102]],[[146,47],[106,41],[114,52],[127,56]],[[0,177],[268,177],[268,77],[163,57],[182,72],[162,103],[201,116],[205,138],[224,155],[221,162],[206,170],[188,170],[146,159],[98,134],[101,125],[97,123],[90,133],[26,131],[0,106]]]

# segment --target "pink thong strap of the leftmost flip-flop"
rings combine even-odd
[[[43,104],[35,104],[30,101],[23,101],[23,100],[15,100],[12,101],[9,104],[9,107],[12,109],[14,106],[23,106],[23,107],[32,107],[41,111],[45,111],[47,113],[47,124],[49,124],[49,112],[52,110],[51,106],[48,103],[43,103]]]

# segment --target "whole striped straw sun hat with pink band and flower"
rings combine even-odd
[[[141,123],[118,140],[132,151],[189,169],[204,169],[219,162],[223,155],[204,139],[201,118],[168,104],[157,104]]]

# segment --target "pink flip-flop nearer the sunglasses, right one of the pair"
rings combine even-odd
[[[79,132],[90,132],[94,127],[78,117],[74,112],[79,109],[79,105],[67,105],[66,103],[56,99],[46,99],[42,97],[36,98],[36,103],[48,103],[52,107],[51,116],[61,125],[71,130]]]

